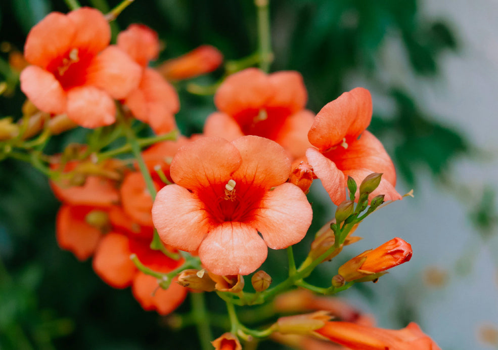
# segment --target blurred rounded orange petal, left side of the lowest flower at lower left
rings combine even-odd
[[[93,267],[97,275],[114,288],[126,288],[138,270],[130,260],[128,238],[108,233],[95,252]]]

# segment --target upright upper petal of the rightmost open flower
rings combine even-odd
[[[356,139],[372,119],[372,97],[363,87],[356,87],[325,105],[309,129],[308,139],[321,151]]]

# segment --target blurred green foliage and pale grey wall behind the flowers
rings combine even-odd
[[[103,12],[118,3],[81,1]],[[2,117],[18,118],[24,100],[6,66],[8,51],[22,51],[29,29],[50,11],[68,9],[62,0],[0,2],[0,42],[10,43],[0,44],[0,76],[12,87],[0,96]],[[374,101],[369,130],[393,158],[398,192],[414,189],[415,198],[369,216],[356,231],[364,240],[341,254],[346,259],[399,236],[412,244],[412,260],[344,296],[381,327],[419,323],[445,350],[498,348],[498,4],[270,0],[270,16],[271,71],[299,71],[314,112],[344,91],[367,87]],[[158,32],[164,50],[157,62],[202,44],[218,48],[225,62],[257,49],[249,0],[137,0],[114,30],[130,23]],[[176,117],[185,135],[200,132],[215,110],[212,95],[192,94],[188,84],[208,86],[222,74],[220,68],[176,85],[182,105]],[[84,137],[85,130],[74,130],[48,151]],[[335,208],[320,183],[309,199],[314,232]],[[195,328],[172,332],[168,319],[144,312],[129,289],[110,288],[91,261],[79,263],[58,248],[58,206],[42,174],[27,164],[0,162],[0,348],[198,348]],[[299,244],[298,261],[311,239]],[[280,260],[285,252],[271,252],[263,266],[277,281],[271,272]],[[341,261],[321,266],[311,280],[328,281]],[[224,312],[215,295],[208,302],[210,310]],[[185,302],[177,312],[188,310]],[[263,342],[261,348],[276,347]]]

